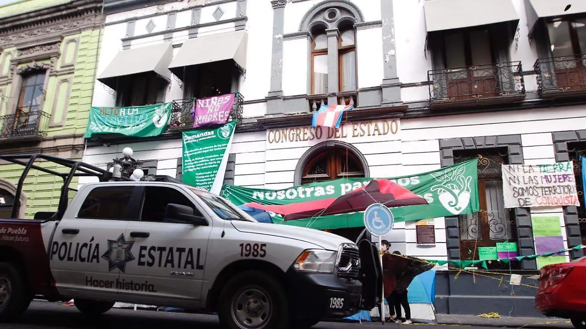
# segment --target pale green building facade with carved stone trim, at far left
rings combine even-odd
[[[0,154],[81,159],[102,21],[96,0],[0,6]],[[59,199],[62,183],[33,172],[20,198],[22,218]],[[19,165],[0,165],[0,217],[10,217],[21,173]]]

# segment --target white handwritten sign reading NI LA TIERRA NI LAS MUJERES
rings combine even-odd
[[[503,165],[505,208],[580,205],[571,162]]]

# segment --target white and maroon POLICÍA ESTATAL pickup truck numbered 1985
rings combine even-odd
[[[35,297],[74,299],[93,316],[122,301],[217,313],[230,329],[307,328],[381,300],[370,238],[355,244],[315,229],[260,223],[168,176],[113,181],[107,170],[59,157],[0,160],[24,166],[12,219],[0,220],[2,322]],[[63,179],[59,207],[34,220],[14,219],[30,170]],[[74,190],[76,176],[98,181]]]

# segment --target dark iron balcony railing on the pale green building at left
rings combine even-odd
[[[0,140],[38,139],[47,135],[50,115],[43,111],[25,112],[0,116]]]

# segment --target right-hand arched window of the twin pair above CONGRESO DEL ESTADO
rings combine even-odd
[[[338,39],[339,90],[356,90],[356,33],[350,23],[340,25]]]

